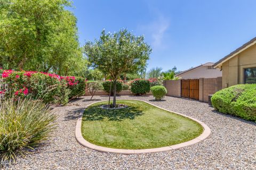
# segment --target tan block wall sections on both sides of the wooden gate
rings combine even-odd
[[[181,80],[165,80],[167,96],[181,97]],[[208,96],[222,89],[222,77],[199,78],[199,101],[208,102]]]

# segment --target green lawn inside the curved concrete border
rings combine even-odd
[[[99,146],[147,149],[175,145],[198,137],[203,127],[189,118],[164,111],[143,101],[118,100],[128,108],[106,110],[91,105],[84,111],[82,135]]]

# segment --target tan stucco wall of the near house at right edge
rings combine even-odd
[[[222,64],[222,88],[244,83],[244,69],[256,67],[256,45]]]

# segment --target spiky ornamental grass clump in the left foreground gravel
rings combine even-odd
[[[0,159],[15,159],[49,139],[55,118],[42,101],[5,99],[0,106]]]

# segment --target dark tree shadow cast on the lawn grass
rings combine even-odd
[[[122,121],[127,118],[134,119],[136,116],[143,115],[139,107],[128,106],[122,109],[102,109],[97,106],[86,108],[83,115],[84,121],[100,121],[107,118],[109,121]]]

